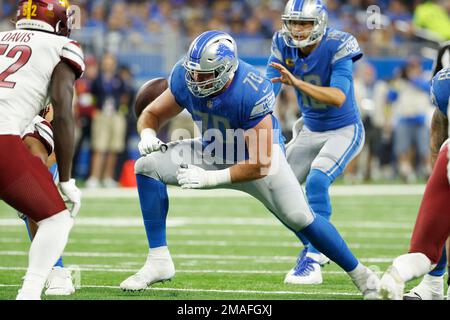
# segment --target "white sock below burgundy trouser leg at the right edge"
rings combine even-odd
[[[423,253],[408,253],[397,257],[393,266],[405,282],[425,275],[432,268],[430,259]]]

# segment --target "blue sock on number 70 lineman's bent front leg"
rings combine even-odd
[[[153,178],[136,174],[142,218],[149,248],[167,246],[166,218],[169,210],[167,186]]]

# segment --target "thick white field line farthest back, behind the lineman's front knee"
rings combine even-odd
[[[330,188],[331,196],[399,196],[399,195],[423,195],[425,185],[351,185],[351,186],[333,186]],[[105,199],[105,198],[138,198],[138,192],[135,188],[130,189],[82,189],[85,199]],[[178,187],[168,188],[169,197],[173,198],[229,198],[250,197],[248,194],[230,190],[182,190]]]

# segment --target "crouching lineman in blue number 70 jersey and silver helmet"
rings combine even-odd
[[[146,156],[137,161],[135,171],[150,251],[142,269],[120,287],[143,290],[175,275],[166,242],[169,184],[184,189],[230,188],[252,195],[294,233],[307,235],[348,272],[365,298],[373,298],[377,276],[358,262],[326,219],[311,212],[284,155],[278,120],[272,115],[272,83],[238,59],[234,40],[221,31],[198,36],[184,61],[175,65],[169,84],[138,120],[139,148]],[[162,142],[156,131],[183,108],[199,125],[202,138],[172,142],[167,152],[158,152]],[[220,132],[220,137],[211,137],[208,129]],[[226,129],[235,134],[230,137]],[[242,157],[235,138],[245,149]],[[224,157],[217,157],[221,152]]]

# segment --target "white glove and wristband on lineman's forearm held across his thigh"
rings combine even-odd
[[[205,189],[231,182],[230,169],[204,170],[189,165],[177,171],[178,184],[182,189]]]

